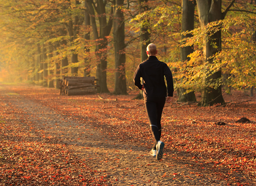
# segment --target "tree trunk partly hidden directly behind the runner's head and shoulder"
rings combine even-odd
[[[148,6],[145,5],[145,3],[147,2],[148,0],[138,0],[140,13],[143,13],[149,10]],[[147,46],[150,44],[150,33],[149,33],[150,28],[148,25],[149,20],[146,17],[141,18],[140,21],[142,22],[140,27],[140,35],[139,35],[140,62],[143,62],[148,58],[146,51],[147,51]],[[143,84],[143,79],[141,79],[141,84]],[[139,94],[133,99],[138,99],[138,100],[143,99],[143,91],[139,91]]]

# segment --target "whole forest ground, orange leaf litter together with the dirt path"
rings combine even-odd
[[[226,106],[210,107],[174,97],[157,161],[137,93],[60,96],[0,84],[0,185],[256,185],[256,95],[231,91]],[[251,122],[236,123],[242,117]]]

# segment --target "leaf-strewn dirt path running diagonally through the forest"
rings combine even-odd
[[[38,87],[35,87],[38,89]],[[20,89],[22,90],[22,89]],[[23,127],[27,127],[34,140],[41,140],[45,136],[45,143],[56,140],[66,144],[72,152],[95,171],[93,177],[104,176],[109,185],[117,186],[158,186],[158,185],[227,185],[229,181],[214,176],[214,170],[201,167],[183,152],[168,152],[162,161],[149,155],[145,147],[129,142],[120,142],[118,139],[109,138],[102,128],[95,128],[93,123],[85,120],[72,120],[50,107],[35,102],[12,90],[10,86],[1,86],[0,102],[19,110],[23,118],[16,118]],[[18,114],[17,114],[18,116]],[[33,128],[28,128],[26,123],[33,123]],[[176,156],[182,156],[177,160]],[[207,160],[205,160],[207,161]],[[206,170],[207,169],[207,170]],[[228,170],[222,169],[223,174]],[[205,174],[207,173],[207,174]],[[237,180],[243,179],[243,185],[250,180],[243,174],[237,174]],[[234,183],[234,180],[232,181]]]

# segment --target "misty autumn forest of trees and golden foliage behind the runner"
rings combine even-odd
[[[98,92],[127,94],[155,43],[178,101],[225,104],[256,85],[253,0],[1,0],[0,81],[57,87],[95,76]]]

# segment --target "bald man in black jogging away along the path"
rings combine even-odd
[[[173,97],[173,78],[172,72],[166,63],[158,61],[156,58],[156,45],[150,43],[147,46],[148,59],[139,64],[136,69],[133,80],[138,89],[143,90],[144,103],[149,120],[150,131],[153,134],[155,144],[150,151],[152,156],[156,156],[157,160],[163,157],[164,143],[160,141],[161,137],[161,116],[165,104],[172,101]],[[167,82],[167,90],[164,81]],[[143,78],[143,84],[140,82]]]

